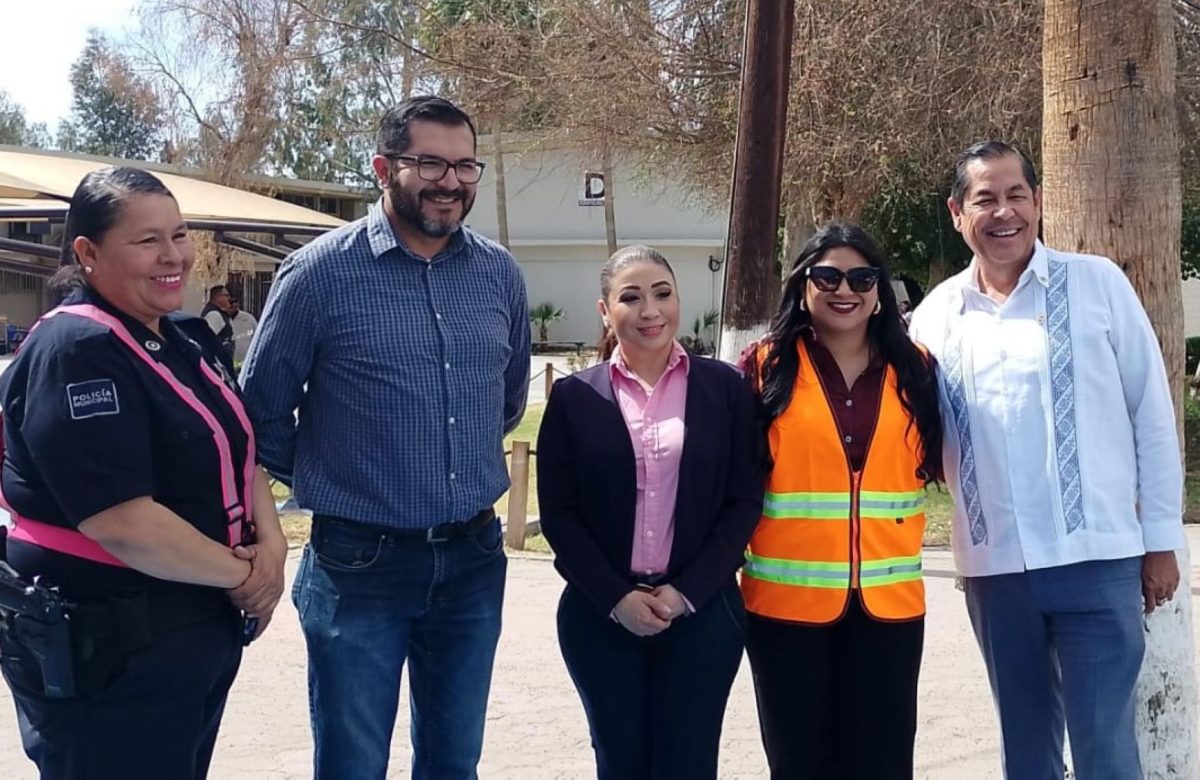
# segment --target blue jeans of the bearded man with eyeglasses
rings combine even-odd
[[[508,560],[497,520],[426,542],[317,516],[292,589],[318,779],[384,778],[408,659],[413,778],[475,778]]]

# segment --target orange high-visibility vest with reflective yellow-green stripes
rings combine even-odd
[[[917,476],[919,437],[900,406],[895,371],[887,368],[866,460],[854,472],[808,346],[797,349],[792,400],[768,432],[775,467],[742,570],[746,610],[833,623],[859,588],[875,618],[920,617],[925,486]]]

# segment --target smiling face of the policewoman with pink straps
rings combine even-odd
[[[88,282],[96,292],[151,329],[182,307],[196,247],[174,198],[126,196],[113,227],[97,241],[79,236],[73,246],[91,269]]]

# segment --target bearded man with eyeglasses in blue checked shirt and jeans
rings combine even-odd
[[[475,776],[524,413],[521,271],[463,226],[484,163],[452,103],[384,114],[366,217],[280,268],[242,368],[264,466],[313,512],[293,589],[317,778],[383,778],[408,662],[412,776]],[[299,415],[295,412],[299,409]]]

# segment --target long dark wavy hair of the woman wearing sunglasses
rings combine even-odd
[[[767,347],[761,366],[762,379],[758,383],[763,440],[772,422],[784,413],[792,400],[796,377],[800,370],[796,344],[803,337],[803,332],[812,328],[812,316],[803,305],[808,287],[806,272],[830,250],[839,247],[854,250],[870,266],[880,269],[880,281],[876,286],[880,294],[880,312],[871,317],[866,326],[866,338],[884,362],[895,371],[900,403],[908,414],[908,427],[911,430],[912,426],[917,426],[920,437],[920,466],[917,476],[926,484],[940,481],[942,416],[937,404],[935,362],[932,356],[923,353],[908,338],[883,256],[866,230],[857,224],[832,222],[817,230],[800,250],[784,282],[779,312],[762,341]],[[749,367],[752,371],[757,366],[750,362]],[[769,452],[768,449],[763,451]]]

